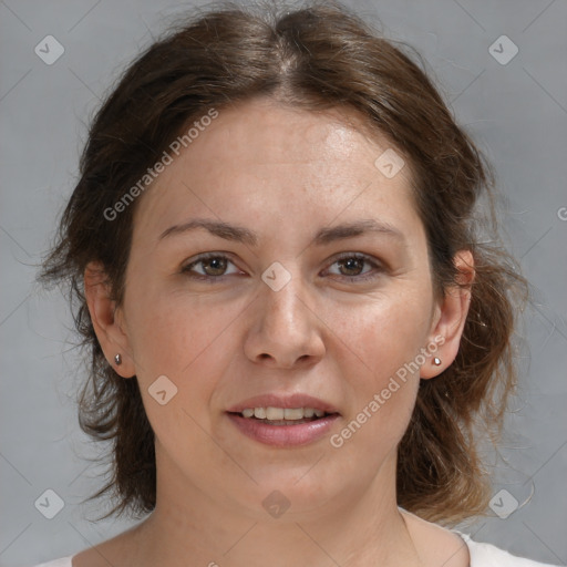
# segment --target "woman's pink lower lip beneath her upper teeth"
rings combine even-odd
[[[297,425],[269,425],[261,420],[244,417],[236,413],[227,413],[227,415],[246,436],[277,447],[296,447],[312,443],[329,433],[334,420],[340,417],[334,413]]]

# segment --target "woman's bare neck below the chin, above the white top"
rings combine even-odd
[[[274,487],[255,486],[249,498],[244,489],[212,494],[166,458],[158,464],[156,508],[136,529],[140,566],[420,565],[395,502],[395,454],[365,488],[344,483],[340,494],[315,505],[300,491],[288,489],[289,501],[272,494],[270,504],[290,503],[279,516],[277,507],[268,508],[271,516],[261,505]]]

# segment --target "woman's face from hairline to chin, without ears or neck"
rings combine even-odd
[[[409,166],[395,174],[391,145],[341,115],[268,100],[219,111],[140,197],[114,351],[156,435],[158,494],[255,516],[272,501],[336,509],[377,478],[394,488],[442,310]],[[228,413],[318,404],[334,415]]]

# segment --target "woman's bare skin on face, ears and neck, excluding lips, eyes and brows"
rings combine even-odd
[[[353,111],[312,113],[257,99],[219,116],[140,197],[125,297],[116,306],[101,266],[85,270],[89,309],[103,351],[136,375],[156,434],[157,505],[120,536],[85,549],[75,567],[468,565],[461,538],[396,507],[395,454],[420,378],[454,360],[470,303],[465,289],[437,299],[423,228],[404,166],[388,178],[374,161],[392,147],[357,127]],[[258,233],[252,247],[204,229],[167,228],[203,217]],[[324,246],[322,227],[372,218],[401,237],[368,233]],[[120,221],[116,220],[116,221]],[[202,252],[223,267],[183,267]],[[373,264],[342,266],[360,252]],[[280,262],[279,291],[262,272]],[[352,260],[351,260],[352,261]],[[470,252],[455,261],[472,281]],[[362,281],[368,274],[375,278]],[[216,276],[217,278],[219,276]],[[349,276],[359,278],[349,280]],[[271,447],[244,436],[225,411],[249,396],[302,392],[332,403],[340,432],[398,369],[435,337],[444,343],[340,449],[329,435]],[[148,388],[166,375],[177,394]],[[262,501],[279,491],[278,518]]]

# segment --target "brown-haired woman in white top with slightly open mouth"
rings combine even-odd
[[[515,381],[488,166],[340,6],[196,17],[99,112],[45,261],[134,528],[63,567],[533,566],[446,526]]]

